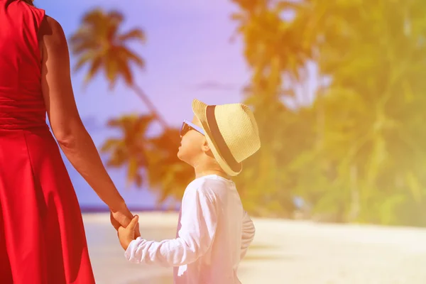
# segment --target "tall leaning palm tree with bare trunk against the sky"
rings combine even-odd
[[[168,129],[168,124],[163,116],[160,115],[145,92],[133,81],[131,65],[143,68],[145,62],[127,45],[131,40],[144,43],[145,34],[139,28],[120,33],[123,20],[124,16],[119,11],[105,13],[102,9],[94,9],[84,15],[82,25],[70,38],[72,53],[79,57],[75,65],[75,72],[82,66],[89,65],[89,71],[84,80],[87,84],[97,72],[104,70],[110,88],[114,87],[119,77],[122,77],[124,82],[146,104],[154,119],[160,122],[163,129]]]

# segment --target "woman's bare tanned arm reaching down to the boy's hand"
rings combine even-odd
[[[41,85],[53,134],[70,163],[127,226],[133,215],[114,186],[75,104],[70,79],[70,54],[60,24],[45,16],[40,25]]]

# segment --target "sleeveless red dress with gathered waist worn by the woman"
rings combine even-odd
[[[92,284],[80,206],[45,122],[44,16],[0,0],[0,283]]]

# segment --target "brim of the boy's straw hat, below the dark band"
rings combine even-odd
[[[239,163],[237,168],[231,168],[226,160],[222,157],[221,153],[217,150],[217,144],[212,139],[212,132],[209,129],[209,124],[207,123],[207,104],[204,102],[200,102],[198,99],[194,99],[192,101],[192,111],[194,112],[197,119],[200,120],[202,129],[204,130],[205,137],[207,143],[209,143],[210,150],[212,151],[214,158],[216,158],[217,163],[219,163],[220,167],[224,170],[224,172],[228,175],[235,176],[241,173],[243,169],[243,164]]]

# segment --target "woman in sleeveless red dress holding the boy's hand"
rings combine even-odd
[[[80,120],[60,24],[31,0],[0,0],[0,21],[0,282],[92,284],[58,144],[109,206],[116,229],[133,216]]]

